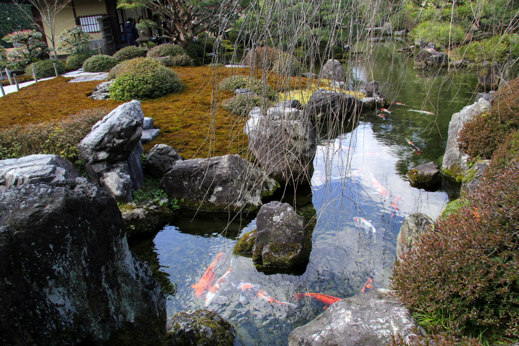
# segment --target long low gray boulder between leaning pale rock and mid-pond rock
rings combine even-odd
[[[160,181],[160,188],[180,206],[209,211],[255,211],[278,187],[238,155],[177,161]]]

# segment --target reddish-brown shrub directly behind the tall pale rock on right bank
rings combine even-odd
[[[458,136],[458,146],[472,158],[489,159],[499,144],[519,130],[519,78],[500,88],[489,112],[467,121]]]

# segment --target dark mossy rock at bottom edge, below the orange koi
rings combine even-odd
[[[235,327],[209,310],[181,311],[167,325],[167,346],[233,346]]]

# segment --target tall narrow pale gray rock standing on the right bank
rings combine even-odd
[[[445,175],[456,177],[456,174],[469,169],[468,155],[461,153],[458,147],[458,134],[463,125],[476,115],[491,108],[490,102],[481,98],[471,105],[463,107],[459,113],[454,113],[449,122],[447,146],[443,155],[442,172]]]

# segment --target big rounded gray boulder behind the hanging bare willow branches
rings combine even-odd
[[[249,150],[267,175],[280,183],[309,184],[316,154],[310,119],[296,108],[271,107],[249,130]]]

